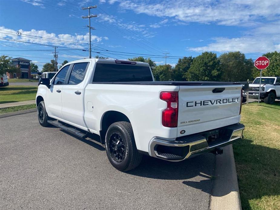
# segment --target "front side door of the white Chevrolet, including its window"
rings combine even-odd
[[[52,80],[50,89],[47,88],[46,107],[50,116],[62,118],[61,93],[69,67],[70,65],[63,67]]]

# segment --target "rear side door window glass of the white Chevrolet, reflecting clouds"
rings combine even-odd
[[[81,81],[83,81],[86,74],[87,65],[88,62],[74,64],[68,84],[79,84]]]

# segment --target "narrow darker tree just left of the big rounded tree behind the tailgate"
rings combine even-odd
[[[192,57],[179,58],[178,63],[173,69],[172,80],[186,81],[186,73],[193,62]]]

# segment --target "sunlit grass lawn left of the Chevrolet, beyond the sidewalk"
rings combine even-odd
[[[36,93],[37,87],[34,86],[0,87],[0,104],[35,100]]]

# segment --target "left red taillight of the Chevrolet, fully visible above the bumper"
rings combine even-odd
[[[167,108],[162,111],[162,125],[169,128],[177,127],[178,92],[161,92],[160,99],[167,103]]]

